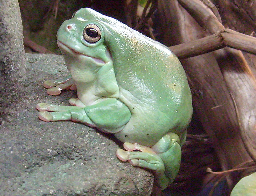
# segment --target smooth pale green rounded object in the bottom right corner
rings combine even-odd
[[[255,196],[256,195],[256,173],[239,180],[233,188],[230,196]]]

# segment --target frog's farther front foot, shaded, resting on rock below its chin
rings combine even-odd
[[[44,81],[43,86],[47,88],[47,94],[49,95],[59,95],[61,90],[64,89],[76,89],[75,82],[72,80],[71,75],[59,80],[46,80]]]

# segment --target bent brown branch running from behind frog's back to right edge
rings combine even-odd
[[[231,29],[224,29],[213,35],[169,48],[178,58],[184,59],[226,46],[256,55],[256,38]]]

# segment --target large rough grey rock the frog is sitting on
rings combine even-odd
[[[149,196],[152,173],[119,161],[115,151],[122,143],[112,135],[80,123],[38,119],[37,103],[69,105],[76,92],[50,96],[42,86],[67,75],[61,56],[26,57],[26,93],[9,104],[10,115],[0,125],[0,195]]]

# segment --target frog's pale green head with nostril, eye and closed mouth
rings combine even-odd
[[[57,43],[64,57],[71,61],[74,57],[82,58],[82,61],[91,61],[99,66],[111,60],[99,16],[103,15],[90,8],[82,8],[63,22],[57,32]]]

